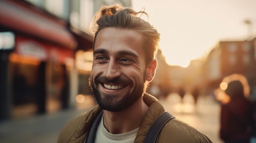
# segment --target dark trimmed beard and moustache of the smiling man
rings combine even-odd
[[[124,92],[122,95],[103,93],[99,90],[97,86],[103,86],[102,83],[112,83],[116,85],[125,83],[128,85],[132,85],[133,82],[130,79],[123,79],[119,77],[115,80],[110,81],[104,76],[99,76],[96,77],[94,81],[92,81],[91,77],[89,77],[89,84],[94,93],[95,98],[97,99],[99,106],[103,110],[119,112],[131,106],[143,95],[143,93],[145,92],[145,76],[146,73],[144,73],[143,81],[137,83],[133,90]]]

